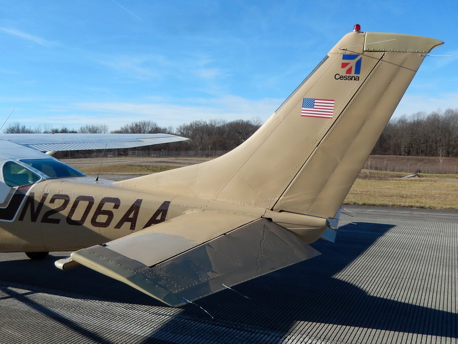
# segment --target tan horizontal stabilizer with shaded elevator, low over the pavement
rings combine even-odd
[[[191,211],[71,259],[177,307],[319,254],[266,218]]]

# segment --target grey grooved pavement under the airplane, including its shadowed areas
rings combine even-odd
[[[0,254],[0,343],[457,343],[458,212],[347,208],[322,255],[198,301],[213,319]]]

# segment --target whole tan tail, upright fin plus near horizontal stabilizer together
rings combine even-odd
[[[183,305],[318,254],[418,67],[441,41],[348,33],[266,123],[202,164],[116,183],[194,211],[72,258]]]

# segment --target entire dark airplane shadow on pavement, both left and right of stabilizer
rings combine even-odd
[[[455,338],[457,314],[371,296],[333,277],[392,227],[365,222],[345,225],[339,228],[336,243],[319,240],[312,244],[322,255],[234,286],[251,300],[224,290],[196,302],[212,314],[214,320],[195,305],[184,306],[180,316],[191,316],[196,322],[210,324],[236,322],[280,333],[286,333],[294,322],[303,321]],[[76,267],[60,271],[53,265],[61,256],[48,256],[43,261],[30,261],[23,256],[24,259],[0,262],[2,285],[19,283],[36,286],[33,289],[36,291],[52,289],[44,291],[64,296],[76,293],[83,299],[164,306],[90,269]],[[161,331],[175,326],[172,319]]]

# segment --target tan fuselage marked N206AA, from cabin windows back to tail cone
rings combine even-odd
[[[18,188],[16,196],[12,194],[10,198],[19,199],[21,188],[27,193],[22,200],[5,201],[9,201],[6,209],[16,214],[13,220],[0,222],[2,252],[79,250],[189,211],[274,217],[308,243],[318,239],[327,227],[326,220],[318,217],[267,212],[263,208],[228,205],[169,192],[125,189],[89,177],[44,180]]]

